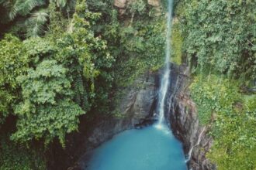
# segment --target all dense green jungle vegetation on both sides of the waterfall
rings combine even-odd
[[[255,6],[175,1],[172,62],[190,67],[218,169],[256,169]],[[112,0],[0,0],[0,169],[46,169],[81,116],[118,117],[126,87],[163,65],[164,33],[164,8],[147,0],[123,15]]]

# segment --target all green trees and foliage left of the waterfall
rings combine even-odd
[[[110,113],[119,89],[157,70],[164,57],[164,17],[143,19],[145,1],[129,6],[125,22],[110,0],[88,0],[89,8],[78,0],[73,11],[74,1],[41,2],[0,2],[1,24],[22,39],[6,35],[0,41],[0,128],[6,117],[13,122],[1,129],[0,169],[45,169],[35,145],[58,138],[64,147],[82,114]],[[127,26],[131,13],[141,21]]]

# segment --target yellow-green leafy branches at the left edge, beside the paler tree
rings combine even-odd
[[[22,100],[17,77],[26,74],[29,65],[34,66],[43,56],[53,53],[54,47],[50,44],[40,38],[21,42],[11,35],[5,35],[0,42],[0,124]]]

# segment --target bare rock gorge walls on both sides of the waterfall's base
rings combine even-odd
[[[118,106],[120,117],[106,117],[95,121],[91,124],[92,127],[87,129],[87,133],[80,134],[82,140],[73,147],[74,151],[71,154],[73,161],[74,158],[78,161],[68,168],[69,170],[85,168],[93,149],[112,138],[113,135],[131,128],[143,128],[154,122],[161,72],[162,70],[158,73],[146,73],[136,80],[137,87],[127,90]],[[171,64],[171,87],[168,90],[171,107],[165,116],[175,136],[182,141],[185,155],[188,155],[194,146],[188,162],[189,168],[215,169],[206,158],[206,153],[213,144],[213,138],[207,135],[206,127],[199,125],[195,103],[189,98],[187,90],[188,73],[186,66]]]

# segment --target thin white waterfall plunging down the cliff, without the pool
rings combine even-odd
[[[172,20],[172,7],[173,0],[168,0],[168,17],[167,17],[167,28],[166,28],[166,46],[165,46],[165,61],[164,61],[164,74],[161,77],[161,87],[159,90],[159,102],[157,111],[159,119],[157,127],[161,128],[164,124],[164,104],[166,94],[168,93],[169,78],[170,78],[170,58],[171,58],[171,20]]]

